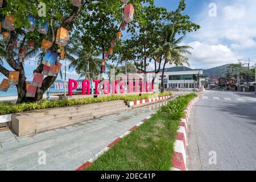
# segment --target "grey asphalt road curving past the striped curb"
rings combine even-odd
[[[256,94],[205,91],[191,111],[187,158],[188,170],[256,170]]]

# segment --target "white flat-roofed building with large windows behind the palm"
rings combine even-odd
[[[179,90],[192,91],[194,88],[202,88],[204,78],[197,79],[194,83],[193,75],[203,75],[203,70],[191,71],[168,71],[164,72],[164,89],[177,88]],[[161,72],[159,73],[159,83],[161,84]]]

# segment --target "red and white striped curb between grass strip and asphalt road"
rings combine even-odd
[[[200,97],[196,97],[191,100],[184,110],[185,117],[181,118],[179,123],[179,129],[177,130],[177,138],[174,143],[174,154],[172,155],[172,170],[174,171],[186,171],[187,159],[186,159],[186,143],[188,133],[188,119],[192,109],[192,106],[199,101]]]

